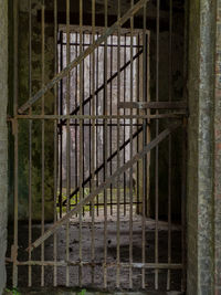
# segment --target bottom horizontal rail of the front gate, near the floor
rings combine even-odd
[[[8,260],[9,262],[9,260]],[[86,261],[82,261],[82,262],[75,262],[75,261],[22,261],[19,262],[17,261],[17,265],[19,266],[24,266],[24,265],[32,265],[32,266],[39,266],[39,265],[43,265],[43,266],[104,266],[104,264],[102,262],[86,262]],[[133,262],[133,263],[106,263],[105,267],[113,267],[113,266],[117,266],[120,265],[122,267],[134,267],[134,268],[149,268],[149,270],[182,270],[183,265],[181,263],[139,263],[139,262]]]

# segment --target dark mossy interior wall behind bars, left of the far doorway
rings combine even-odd
[[[46,1],[45,8],[51,6]],[[42,35],[41,22],[36,18],[38,10],[41,10],[40,1],[32,1],[32,56],[31,56],[31,93],[35,94],[42,86]],[[45,71],[44,81],[48,83],[54,75],[54,29],[53,25],[45,24]],[[30,93],[30,62],[29,62],[29,1],[19,1],[19,48],[18,48],[18,103],[19,106],[29,99]],[[54,95],[53,91],[49,91],[45,95],[45,114],[53,114]],[[12,103],[12,102],[11,102]],[[33,105],[33,114],[41,114],[41,99]],[[53,123],[45,122],[45,220],[53,220]],[[42,214],[42,123],[40,120],[32,122],[32,219],[41,220]],[[19,219],[28,220],[29,207],[29,152],[30,152],[30,135],[29,120],[19,120]],[[11,150],[13,155],[13,150]],[[11,156],[12,156],[11,155]],[[10,217],[13,217],[13,157],[10,157]]]

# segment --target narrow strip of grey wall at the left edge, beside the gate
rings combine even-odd
[[[6,284],[4,255],[7,249],[8,200],[8,1],[0,0],[0,294]]]

